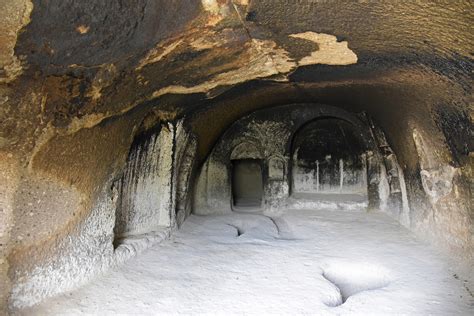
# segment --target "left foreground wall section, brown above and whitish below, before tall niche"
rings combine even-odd
[[[15,212],[16,240],[9,255],[12,306],[30,305],[72,288],[103,266],[105,249],[113,249],[115,209],[108,188],[113,170],[125,158],[110,153],[130,146],[130,136],[120,135],[130,123],[133,120],[118,120],[58,135],[46,147],[47,154],[38,151],[16,191],[15,204],[24,206]],[[53,159],[45,159],[48,154]],[[96,168],[95,175],[83,177],[84,168]],[[97,186],[92,179],[102,184]],[[29,213],[20,216],[25,211]]]

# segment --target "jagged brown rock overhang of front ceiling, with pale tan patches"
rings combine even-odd
[[[10,15],[26,18],[2,22],[17,32],[1,60],[22,68],[3,67],[4,81],[16,79],[4,92],[40,94],[43,122],[34,123],[61,128],[249,80],[354,80],[413,66],[459,78],[472,67],[470,1],[20,3]]]

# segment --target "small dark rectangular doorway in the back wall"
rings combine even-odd
[[[263,196],[262,161],[232,160],[232,197],[236,207],[260,207]]]

